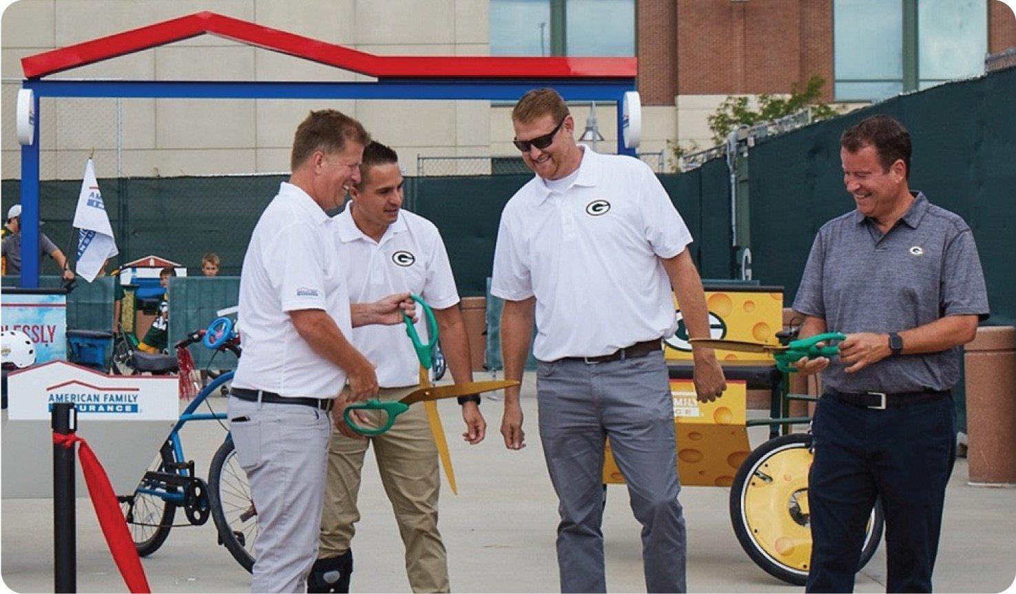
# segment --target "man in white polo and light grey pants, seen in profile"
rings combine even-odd
[[[237,460],[247,472],[259,535],[252,592],[303,592],[317,553],[328,411],[377,394],[371,362],[346,340],[353,327],[397,324],[408,294],[351,309],[332,219],[359,181],[370,136],[334,110],[297,128],[289,183],[251,236],[240,274],[244,353],[228,404]]]

